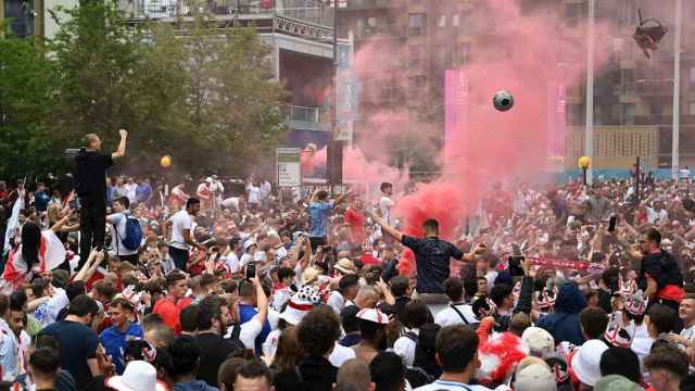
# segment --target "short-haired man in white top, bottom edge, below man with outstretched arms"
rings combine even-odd
[[[469,384],[480,367],[478,335],[466,326],[443,328],[437,336],[437,361],[442,376],[434,382],[418,387],[415,391],[489,391],[482,386]]]

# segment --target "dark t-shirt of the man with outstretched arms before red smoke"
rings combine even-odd
[[[407,235],[403,245],[415,253],[418,293],[444,293],[443,283],[448,278],[451,258],[462,260],[464,253],[456,245],[439,238],[414,238]]]

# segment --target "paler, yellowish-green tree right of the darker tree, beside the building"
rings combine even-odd
[[[279,111],[285,88],[273,80],[270,50],[252,27],[216,27],[205,15],[185,25],[185,112],[199,151],[185,164],[236,175],[267,169],[287,130]]]

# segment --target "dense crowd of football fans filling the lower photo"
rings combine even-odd
[[[0,390],[695,390],[687,178],[494,184],[451,241],[388,182],[105,184],[103,244],[0,184]]]

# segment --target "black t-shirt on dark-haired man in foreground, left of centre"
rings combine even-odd
[[[208,386],[217,387],[217,370],[227,357],[244,346],[241,341],[224,339],[214,332],[203,332],[195,336],[198,349],[200,349],[200,365],[198,379],[204,380]]]

